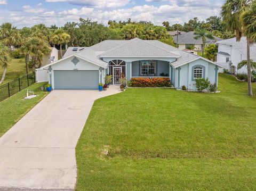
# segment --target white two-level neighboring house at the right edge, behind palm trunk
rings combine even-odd
[[[237,69],[237,64],[243,60],[247,60],[247,43],[246,38],[242,37],[240,41],[236,38],[220,40],[218,45],[217,62],[223,65],[223,68],[231,73],[247,73],[247,68]],[[256,62],[256,45],[250,48],[251,59]],[[223,72],[223,69],[220,70]]]

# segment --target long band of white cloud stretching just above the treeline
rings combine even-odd
[[[67,0],[47,1],[64,2]],[[110,1],[114,2],[116,0]],[[57,9],[54,8],[47,9],[46,11],[43,7],[25,5],[23,6],[23,12],[8,10],[0,12],[0,19],[2,22],[12,22],[17,27],[30,27],[38,23],[44,23],[47,26],[51,26],[52,24],[63,26],[66,22],[78,22],[80,17],[90,18],[92,21],[103,22],[104,24],[107,24],[108,20],[124,21],[131,18],[133,21],[151,21],[154,24],[162,26],[163,21],[169,21],[170,24],[183,24],[194,17],[198,17],[199,20],[205,20],[211,15],[219,15],[221,1],[223,0],[214,0],[214,3],[209,5],[209,2],[212,1],[213,0],[205,0],[205,2],[202,2],[202,5],[198,5],[198,2],[201,2],[201,0],[168,0],[158,6],[155,4],[136,6],[132,5],[131,1],[129,7],[116,9],[101,9],[96,6],[81,6],[80,8],[76,6],[73,8],[70,5],[70,9],[64,9],[62,11],[57,11]],[[181,4],[181,2],[183,4]],[[10,16],[7,18],[5,15]]]

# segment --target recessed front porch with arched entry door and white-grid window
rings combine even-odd
[[[171,60],[170,60],[171,61]],[[172,81],[172,66],[169,60],[111,60],[107,74],[112,76],[113,84],[120,84],[121,76],[131,78],[170,78]]]

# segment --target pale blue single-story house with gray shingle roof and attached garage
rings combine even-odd
[[[53,89],[97,89],[106,74],[119,84],[121,74],[128,80],[170,78],[173,86],[196,89],[195,78],[209,78],[218,85],[220,64],[181,51],[158,40],[105,40],[42,67]],[[161,73],[167,74],[162,77]],[[37,78],[39,79],[39,78]],[[42,79],[42,78],[40,78]]]

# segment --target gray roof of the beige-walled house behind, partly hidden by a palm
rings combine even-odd
[[[194,37],[196,37],[196,35],[194,35],[194,31],[187,32],[184,35],[179,35],[178,44],[203,44],[202,38],[195,39]],[[214,36],[214,38],[215,39],[206,38],[206,44],[214,44],[218,40],[222,40],[219,37]],[[177,43],[177,38],[174,38],[174,42]]]

